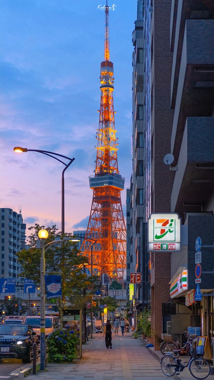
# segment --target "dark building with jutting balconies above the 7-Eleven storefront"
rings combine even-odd
[[[171,254],[168,286],[171,301],[185,302],[191,312],[191,325],[201,327],[201,336],[211,339],[214,336],[214,283],[213,274],[209,273],[214,268],[214,3],[172,1],[169,29],[169,49],[173,54],[170,103],[174,109],[171,154],[172,165],[177,169],[171,212],[179,214],[187,239],[181,252]],[[197,260],[196,249],[201,251]],[[200,298],[196,280],[201,301],[194,298],[195,293]],[[179,325],[182,317],[172,314],[170,318],[172,328],[174,319]]]

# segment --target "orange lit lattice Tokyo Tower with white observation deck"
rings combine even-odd
[[[107,3],[108,4],[108,3]],[[97,129],[97,158],[95,175],[89,177],[93,190],[92,206],[86,238],[97,242],[93,246],[93,272],[102,271],[111,279],[113,276],[120,282],[124,278],[126,267],[126,228],[121,190],[124,189],[124,177],[121,177],[117,166],[117,138],[114,126],[114,69],[109,59],[109,8],[105,7],[105,49],[104,61],[100,68],[100,119]],[[81,253],[91,258],[92,242],[83,241]]]

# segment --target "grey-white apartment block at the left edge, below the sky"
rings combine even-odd
[[[26,224],[23,223],[21,213],[9,208],[0,208],[1,225],[1,277],[13,277],[21,282],[18,274],[21,273],[21,265],[17,261],[17,252],[25,247]]]

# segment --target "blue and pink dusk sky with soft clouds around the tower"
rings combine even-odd
[[[125,213],[132,171],[132,31],[137,0],[108,5],[112,4],[110,60]],[[65,232],[87,227],[104,59],[105,11],[98,5],[105,2],[0,1],[0,207],[19,212],[21,206],[27,227],[39,223],[61,229],[64,166],[43,154],[14,153],[14,146],[75,157],[65,172]]]

